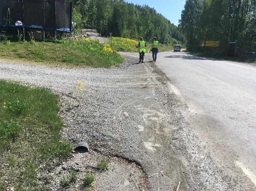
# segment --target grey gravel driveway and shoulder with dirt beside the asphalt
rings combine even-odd
[[[1,63],[1,79],[42,86],[58,94],[62,139],[73,147],[81,141],[90,146],[89,152],[72,153],[60,166],[40,172],[39,180],[52,190],[82,190],[84,174],[92,171],[95,190],[175,191],[179,182],[179,190],[209,190],[203,179],[196,178],[205,169],[192,166],[186,151],[182,132],[188,123],[182,111],[187,106],[170,91],[169,80],[155,63],[146,59],[138,63],[138,58],[123,56],[124,64],[111,69]],[[77,93],[80,80],[86,91]],[[96,168],[102,157],[110,162],[107,171]],[[61,178],[72,170],[78,180],[61,186]]]

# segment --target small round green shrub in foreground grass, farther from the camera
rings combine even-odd
[[[29,110],[29,106],[19,100],[6,103],[6,110],[12,114],[20,115]]]

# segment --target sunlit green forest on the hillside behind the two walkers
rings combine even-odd
[[[73,20],[80,28],[97,29],[102,35],[160,43],[185,43],[182,32],[170,20],[147,5],[140,6],[124,0],[72,0]],[[145,2],[146,3],[146,2]]]

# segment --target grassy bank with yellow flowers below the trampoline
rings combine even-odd
[[[121,55],[104,49],[97,40],[58,42],[0,42],[0,60],[49,66],[109,68],[123,62]]]

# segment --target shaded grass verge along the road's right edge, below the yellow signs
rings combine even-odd
[[[224,60],[247,62],[247,63],[256,63],[256,60],[254,60],[254,59],[243,59],[240,57],[221,56],[221,55],[209,54],[209,53],[204,53],[204,52],[188,52],[187,51],[187,53],[198,56],[198,57],[224,59]]]

